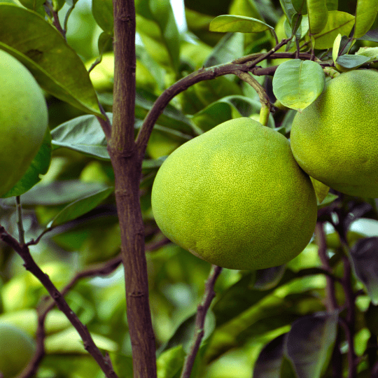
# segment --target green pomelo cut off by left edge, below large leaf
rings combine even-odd
[[[47,106],[36,80],[17,59],[0,50],[0,196],[27,171],[47,125]]]

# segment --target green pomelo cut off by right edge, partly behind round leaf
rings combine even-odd
[[[378,71],[342,73],[293,120],[290,143],[307,174],[339,192],[378,197]]]

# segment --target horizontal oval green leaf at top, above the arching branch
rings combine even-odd
[[[221,15],[210,22],[210,31],[232,31],[240,33],[260,33],[260,31],[265,31],[269,29],[274,29],[270,25],[265,24],[256,18],[250,18],[245,16],[237,15]]]

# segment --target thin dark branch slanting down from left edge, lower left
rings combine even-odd
[[[20,255],[22,260],[24,260],[25,262],[25,269],[29,270],[31,274],[36,276],[36,278],[41,281],[46,290],[48,290],[48,293],[55,301],[58,309],[66,315],[73,327],[75,327],[78,331],[80,337],[83,339],[85,350],[87,350],[92,355],[94,360],[96,360],[99,367],[101,367],[102,371],[106,374],[106,377],[116,378],[116,373],[111,368],[109,363],[106,363],[106,360],[104,359],[104,356],[102,356],[101,351],[99,351],[96,344],[94,344],[90,332],[87,330],[87,327],[80,322],[78,316],[76,316],[76,314],[69,307],[66,300],[64,300],[62,293],[59,293],[59,290],[57,290],[48,275],[43,273],[41,268],[36,265],[36,262],[31,257],[31,254],[29,252],[29,246],[27,246],[27,244],[20,244],[14,237],[9,235],[2,226],[0,226],[0,239],[4,243],[8,244],[8,246],[13,248],[15,252],[18,253],[18,255]],[[42,336],[43,335],[40,335],[40,337]]]

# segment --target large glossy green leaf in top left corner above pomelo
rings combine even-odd
[[[102,117],[80,57],[40,15],[0,3],[0,48],[27,66],[46,92],[85,113]]]

